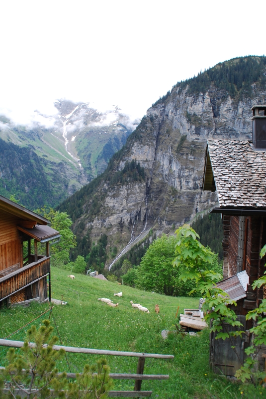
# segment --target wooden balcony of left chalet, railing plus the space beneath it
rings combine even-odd
[[[33,255],[34,256],[34,255]],[[11,271],[0,278],[0,302],[11,302],[39,297],[40,302],[47,298],[47,276],[50,273],[50,256],[43,256],[27,266]],[[23,298],[24,295],[24,299]]]

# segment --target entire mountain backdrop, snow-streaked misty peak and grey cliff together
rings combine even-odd
[[[89,268],[111,269],[133,245],[174,232],[215,205],[216,193],[201,191],[206,140],[251,139],[251,107],[265,103],[266,58],[248,56],[178,82],[133,133],[117,108],[101,114],[66,101],[56,103],[53,131],[12,127],[2,118],[8,128],[0,132],[0,194],[18,193],[30,206],[31,193],[38,206],[41,198],[63,200],[57,209],[70,215],[77,235],[72,260],[84,255]],[[111,112],[116,118],[104,122]],[[93,250],[100,260],[92,265]]]

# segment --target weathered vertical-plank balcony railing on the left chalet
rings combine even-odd
[[[0,299],[12,294],[13,292],[25,287],[25,285],[31,283],[34,280],[44,276],[49,272],[50,258],[44,258],[39,260],[37,263],[31,263],[24,266],[22,269],[16,270],[7,276],[0,278]],[[43,296],[43,300],[47,298],[47,287],[46,279],[39,284]]]

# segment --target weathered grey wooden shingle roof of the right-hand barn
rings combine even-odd
[[[207,143],[203,190],[216,188],[221,208],[266,208],[266,150],[255,151],[247,140]]]

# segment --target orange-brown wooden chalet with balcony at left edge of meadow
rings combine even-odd
[[[47,224],[41,215],[0,196],[0,305],[46,301],[47,279],[51,300],[49,244],[60,234]],[[46,243],[46,255],[38,255],[38,242]]]

